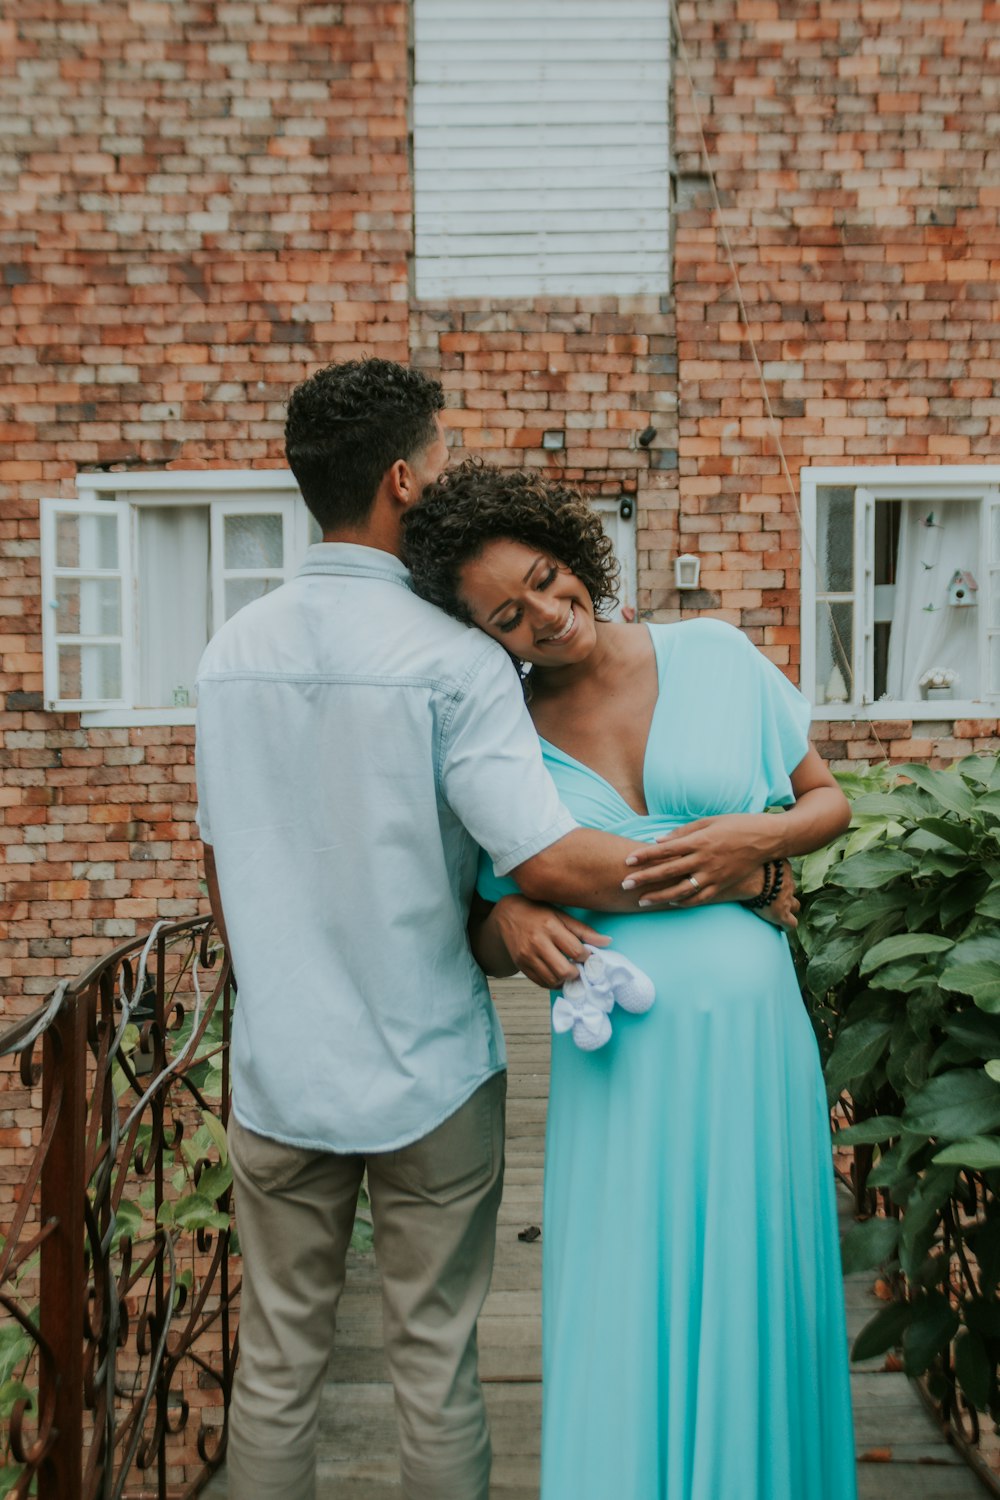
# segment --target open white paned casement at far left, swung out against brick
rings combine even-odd
[[[132,672],[129,507],[43,500],[40,520],[45,705],[120,706]]]

